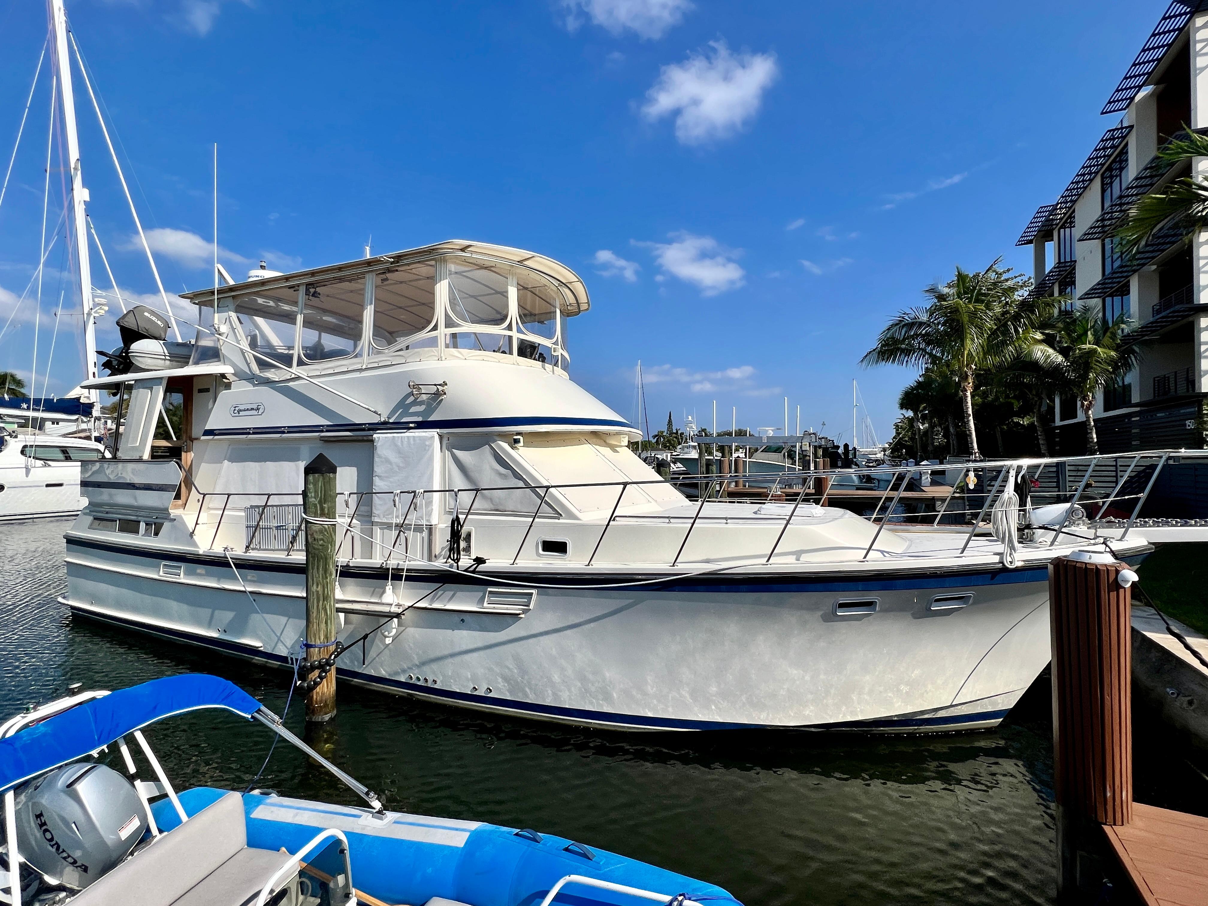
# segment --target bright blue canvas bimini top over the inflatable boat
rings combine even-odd
[[[77,704],[0,739],[0,792],[66,765],[157,720],[203,708],[250,719],[260,702],[204,673],[165,676]]]

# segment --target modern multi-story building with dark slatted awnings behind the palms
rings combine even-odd
[[[1140,365],[1096,401],[1099,448],[1186,448],[1206,443],[1208,230],[1165,226],[1133,256],[1113,233],[1138,198],[1186,176],[1208,176],[1208,157],[1171,165],[1157,150],[1184,129],[1208,132],[1208,0],[1174,0],[1103,108],[1122,114],[1017,245],[1033,246],[1035,292],[1069,294],[1103,316],[1127,313],[1143,342]],[[1085,452],[1076,400],[1056,401],[1055,452]]]

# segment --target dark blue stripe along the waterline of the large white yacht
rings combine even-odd
[[[201,633],[182,632],[178,629],[169,629],[161,626],[151,626],[143,623],[138,620],[129,617],[114,616],[109,612],[92,611],[87,606],[74,604],[66,598],[59,598],[59,600],[69,606],[74,612],[81,616],[92,617],[106,623],[114,623],[116,626],[123,626],[130,629],[137,629],[139,632],[151,633],[153,635],[163,635],[165,638],[175,639],[178,641],[185,641],[190,644],[205,645],[208,647],[215,647],[221,651],[226,651],[232,655],[239,655],[257,661],[269,661],[279,666],[288,666],[288,660],[278,654],[271,651],[260,651],[248,649],[242,645],[237,645],[225,639],[215,639],[213,637],[203,635]],[[726,721],[710,721],[710,720],[683,720],[679,718],[650,718],[640,714],[612,714],[609,712],[596,712],[586,708],[563,708],[561,705],[553,704],[536,704],[532,702],[517,702],[510,698],[495,698],[493,696],[480,696],[472,695],[470,692],[458,692],[448,689],[439,689],[435,686],[417,685],[414,683],[406,683],[403,680],[391,679],[389,676],[378,676],[371,673],[361,673],[359,670],[347,669],[344,667],[338,668],[341,674],[349,680],[360,683],[367,686],[379,686],[383,689],[394,689],[401,692],[413,695],[418,698],[432,698],[432,699],[445,699],[448,702],[455,702],[459,704],[465,704],[470,707],[478,707],[487,710],[511,713],[519,716],[542,716],[552,718],[563,721],[590,724],[597,726],[614,726],[614,727],[626,727],[631,730],[768,730],[768,728],[783,728],[783,730],[887,730],[887,728],[923,728],[923,727],[953,727],[964,724],[986,724],[997,722],[1006,715],[1006,710],[993,710],[983,712],[978,714],[959,714],[959,715],[946,715],[937,718],[882,718],[872,719],[866,721],[850,721],[846,724],[814,724],[814,725],[769,725],[769,724],[736,724]]]

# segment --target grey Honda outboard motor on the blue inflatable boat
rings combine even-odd
[[[124,859],[146,827],[134,785],[104,765],[60,767],[17,796],[22,858],[48,882],[76,890]]]

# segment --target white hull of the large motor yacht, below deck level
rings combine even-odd
[[[69,534],[66,562],[63,600],[82,616],[268,663],[300,650],[297,558],[227,561]],[[178,564],[179,576],[163,575]],[[650,575],[413,569],[400,583],[395,570],[401,614],[381,603],[387,575],[368,564],[341,570],[338,637],[352,646],[342,679],[593,727],[991,727],[1049,662],[1043,565],[715,575],[608,590],[588,586]],[[517,588],[532,592],[530,606],[488,603],[492,590]],[[965,606],[935,606],[936,596],[942,604],[963,594]],[[872,612],[843,612],[853,606]]]

